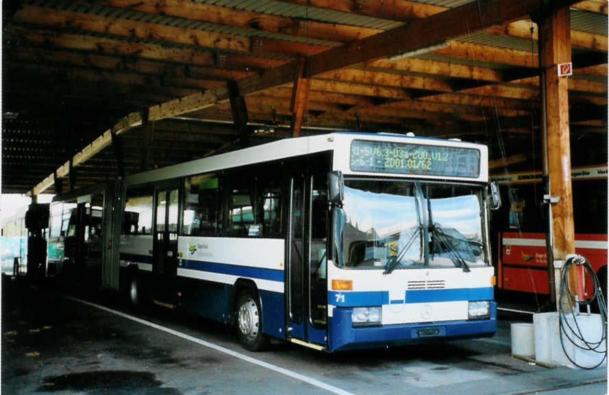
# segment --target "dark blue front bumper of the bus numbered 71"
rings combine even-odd
[[[416,324],[353,327],[351,308],[335,307],[329,317],[329,351],[353,350],[438,342],[473,337],[490,337],[497,331],[497,303],[490,303],[487,320],[419,322]]]

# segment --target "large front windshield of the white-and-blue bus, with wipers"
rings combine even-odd
[[[344,268],[487,266],[483,188],[464,184],[346,179],[335,210]]]

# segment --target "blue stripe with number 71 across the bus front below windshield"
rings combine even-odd
[[[335,306],[380,306],[398,303],[431,303],[451,301],[490,301],[493,298],[492,287],[456,288],[449,290],[416,290],[406,291],[405,299],[389,299],[388,291],[337,292],[328,291],[328,303]]]

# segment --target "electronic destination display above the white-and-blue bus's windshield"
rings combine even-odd
[[[353,140],[350,168],[370,173],[477,178],[480,151],[454,146]]]

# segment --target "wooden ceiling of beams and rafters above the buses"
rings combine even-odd
[[[54,192],[53,172],[80,188],[295,122],[458,137],[539,168],[538,3],[3,1],[2,191]],[[572,7],[574,149],[606,162],[607,2],[550,3]]]

